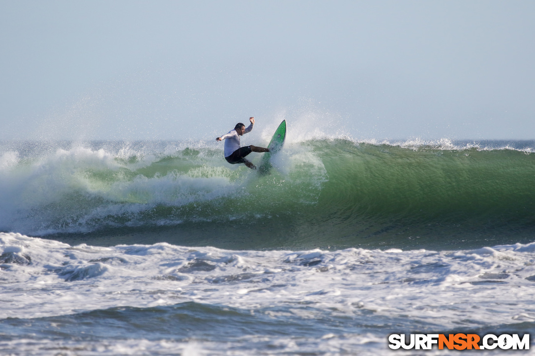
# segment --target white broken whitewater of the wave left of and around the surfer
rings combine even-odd
[[[165,155],[143,144],[133,148],[128,143],[106,149],[60,148],[24,160],[15,152],[5,153],[5,164],[0,166],[0,229],[42,236],[89,232],[104,226],[139,226],[146,222],[140,216],[147,216],[156,206],[217,205],[258,185],[255,172],[243,165],[228,165],[220,152],[207,148],[173,151],[170,146],[164,149],[170,151]],[[255,155],[251,159],[258,160],[260,155]],[[297,189],[301,203],[317,201],[327,177],[322,161],[310,148],[289,145],[274,155],[273,166],[281,184],[303,185],[304,189]],[[303,170],[308,174],[303,175]],[[265,187],[254,191],[264,191],[268,198],[272,192]],[[200,209],[199,216],[195,209],[190,211],[188,216],[157,216],[149,223],[176,225],[187,219],[213,217],[202,215]]]

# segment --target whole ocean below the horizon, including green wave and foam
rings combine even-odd
[[[535,142],[316,137],[272,165],[0,143],[0,354],[415,354],[388,335],[535,330]]]

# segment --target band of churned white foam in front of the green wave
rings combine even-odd
[[[226,251],[166,243],[68,246],[1,234],[0,309],[4,317],[36,318],[183,301],[239,308],[307,302],[342,313],[407,315],[437,328],[454,328],[460,320],[465,326],[500,324],[535,319],[529,307],[534,245],[452,252]]]

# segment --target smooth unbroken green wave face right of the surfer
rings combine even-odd
[[[349,240],[416,247],[533,238],[533,154],[344,141],[315,150],[329,176],[318,207]]]

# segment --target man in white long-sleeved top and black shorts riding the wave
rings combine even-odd
[[[253,145],[240,147],[240,136],[250,132],[255,125],[255,118],[249,118],[249,121],[251,125],[248,128],[245,128],[243,123],[238,122],[233,130],[229,131],[226,135],[217,137],[216,141],[227,140],[225,141],[225,159],[228,163],[231,165],[243,163],[251,169],[256,169],[255,165],[248,161],[245,156],[251,152],[269,152],[269,149]]]

